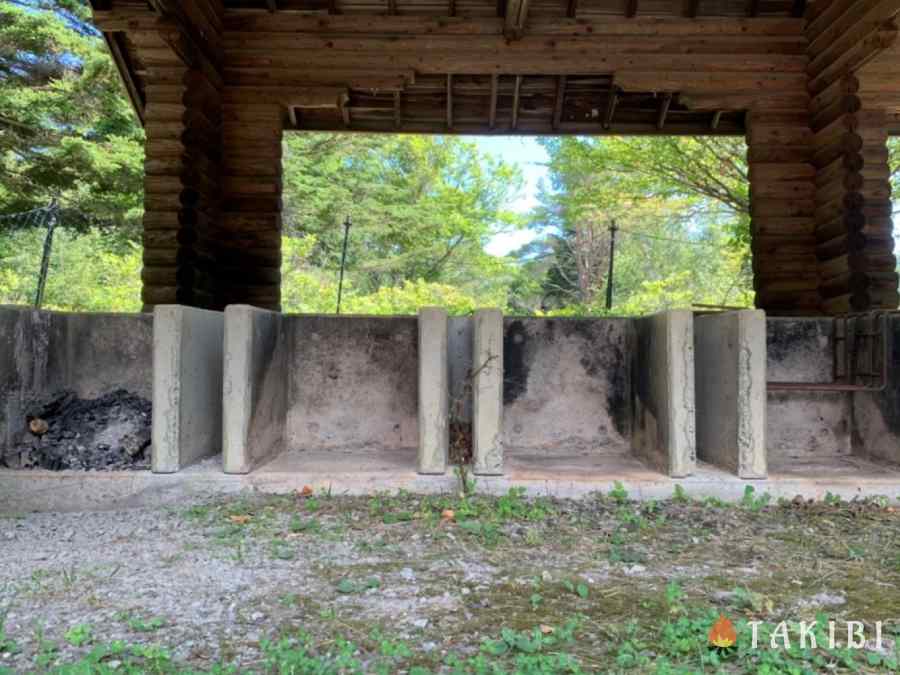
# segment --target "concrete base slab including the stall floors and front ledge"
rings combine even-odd
[[[694,497],[738,500],[747,485],[758,494],[821,499],[827,492],[844,499],[885,495],[900,503],[900,467],[858,457],[789,461],[770,468],[765,480],[746,481],[699,463],[688,478],[671,479],[628,455],[575,453],[539,457],[507,455],[504,476],[477,477],[476,489],[501,493],[521,486],[529,494],[579,497],[607,492],[621,482],[638,499],[666,499],[675,485]],[[206,459],[175,474],[149,472],[0,471],[0,512],[76,511],[158,505],[185,497],[259,490],[283,493],[309,485],[334,494],[366,494],[398,489],[415,493],[457,490],[452,471],[444,476],[415,472],[413,449],[384,452],[285,452],[247,475],[222,473],[221,457]]]

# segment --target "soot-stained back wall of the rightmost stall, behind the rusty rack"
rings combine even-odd
[[[766,321],[769,382],[831,382],[834,321],[769,318]],[[769,462],[849,455],[851,398],[842,392],[770,391],[766,438]]]

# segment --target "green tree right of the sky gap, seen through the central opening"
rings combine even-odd
[[[670,138],[542,142],[550,155],[550,185],[541,192],[531,225],[544,234],[518,254],[523,267],[543,274],[538,308],[605,311],[601,290],[608,283],[612,221],[620,228],[617,313],[750,304],[750,258],[742,236],[746,186],[739,184],[738,148],[727,144],[714,154],[704,143]],[[659,167],[642,168],[657,157]],[[704,176],[717,162],[733,165],[733,173],[709,187]],[[515,302],[524,304],[521,296]]]

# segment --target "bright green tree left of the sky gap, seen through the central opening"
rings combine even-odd
[[[308,264],[337,270],[350,216],[356,292],[422,280],[477,296],[509,276],[484,245],[519,226],[508,205],[520,185],[516,167],[459,137],[289,134],[285,232],[313,235]]]

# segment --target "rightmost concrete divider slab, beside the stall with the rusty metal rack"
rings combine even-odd
[[[694,321],[697,456],[740,478],[766,477],[766,315]]]

